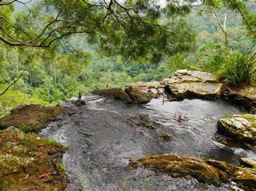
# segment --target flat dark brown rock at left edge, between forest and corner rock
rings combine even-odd
[[[23,129],[25,132],[38,131],[42,129],[47,122],[57,117],[65,111],[63,107],[45,107],[43,105],[25,105],[11,110],[11,114],[0,119],[0,129],[15,126]]]

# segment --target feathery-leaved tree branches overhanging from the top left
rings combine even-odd
[[[4,3],[10,2],[8,5]],[[13,1],[16,2],[16,1]],[[107,55],[122,55],[126,59],[148,59],[159,62],[165,53],[187,51],[195,36],[183,17],[191,4],[166,1],[32,1],[10,17],[14,3],[0,3],[0,41],[10,46],[65,48],[72,34],[84,33],[91,44]],[[161,16],[170,18],[160,24]],[[39,24],[38,24],[39,23]]]

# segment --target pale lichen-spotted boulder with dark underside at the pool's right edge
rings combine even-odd
[[[232,115],[221,118],[217,123],[218,131],[240,142],[256,142],[256,115]]]

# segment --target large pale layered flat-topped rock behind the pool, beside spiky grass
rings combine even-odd
[[[177,70],[173,76],[161,81],[161,84],[178,98],[218,98],[222,87],[222,83],[218,83],[212,74],[187,69]]]

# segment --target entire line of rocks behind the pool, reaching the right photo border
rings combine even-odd
[[[224,96],[253,110],[256,107],[256,86],[244,86],[237,90],[225,87],[213,74],[206,72],[177,70],[171,77],[161,82],[137,82],[120,88],[95,90],[93,94],[122,100],[126,103],[148,103],[152,98],[163,96],[166,101],[183,100],[184,98],[216,99]]]

